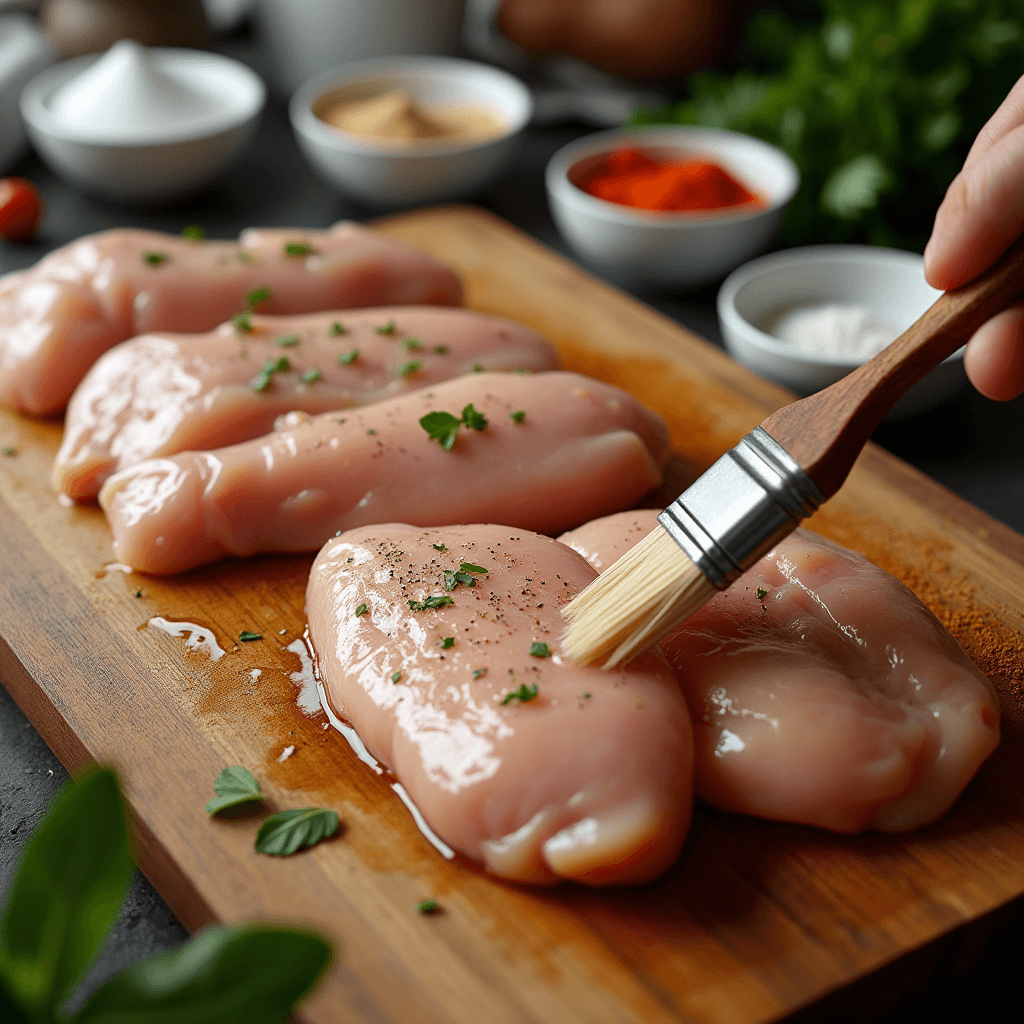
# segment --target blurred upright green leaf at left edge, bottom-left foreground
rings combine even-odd
[[[30,1017],[49,1020],[69,994],[134,869],[114,772],[67,783],[25,848],[0,921],[0,978]]]

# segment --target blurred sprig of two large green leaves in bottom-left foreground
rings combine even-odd
[[[69,782],[33,833],[0,914],[5,1024],[280,1024],[331,959],[324,939],[260,925],[206,928],[63,1007],[117,916],[134,871],[114,773]]]

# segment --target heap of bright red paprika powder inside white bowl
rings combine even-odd
[[[764,206],[718,164],[705,160],[658,160],[642,150],[615,150],[580,182],[584,191],[641,210],[722,210]]]

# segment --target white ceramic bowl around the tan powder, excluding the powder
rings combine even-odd
[[[408,90],[428,105],[472,104],[496,114],[504,132],[483,141],[378,142],[331,127],[316,116],[334,96],[359,86],[364,94]],[[512,75],[456,57],[391,56],[355,60],[310,79],[292,97],[299,147],[340,193],[378,208],[468,196],[509,164],[534,111],[529,90]]]

